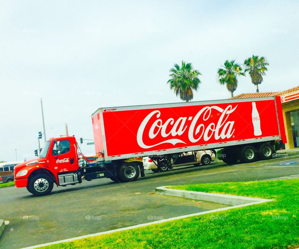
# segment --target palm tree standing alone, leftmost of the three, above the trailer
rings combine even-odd
[[[169,76],[171,79],[167,81],[170,85],[170,89],[174,90],[176,96],[180,95],[180,98],[186,102],[193,99],[193,90],[197,91],[199,84],[201,83],[198,76],[201,73],[198,70],[193,70],[192,64],[182,60],[182,66],[174,64],[174,68],[170,69]]]

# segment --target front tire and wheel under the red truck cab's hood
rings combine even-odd
[[[27,189],[33,195],[44,196],[51,193],[53,185],[53,179],[50,175],[39,174],[29,180]]]

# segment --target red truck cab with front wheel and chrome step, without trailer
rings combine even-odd
[[[51,138],[36,159],[14,168],[15,185],[34,195],[49,194],[53,185],[80,183],[78,153],[73,136]]]

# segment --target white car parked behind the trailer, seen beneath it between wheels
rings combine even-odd
[[[160,160],[163,159],[163,157],[160,157]],[[174,162],[172,167],[178,167],[178,166],[186,166],[186,165],[209,165],[212,161],[216,159],[215,151],[189,151],[189,152],[183,152]],[[168,165],[163,164],[161,166],[160,170],[158,169],[157,165],[154,163],[154,161],[149,158],[148,156],[145,156],[142,158],[143,166],[145,170],[152,170],[153,172],[157,173],[159,171],[167,171],[169,169]],[[156,161],[157,163],[157,161]],[[173,159],[171,159],[171,163],[173,163]]]

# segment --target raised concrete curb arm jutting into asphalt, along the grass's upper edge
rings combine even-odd
[[[197,191],[168,189],[166,187],[171,187],[171,186],[158,187],[156,188],[156,193],[183,197],[188,199],[222,203],[222,204],[227,204],[232,206],[239,206],[243,204],[257,204],[257,203],[272,201],[270,199],[252,198],[252,197],[237,196],[237,195],[230,195],[230,194],[212,194],[212,193],[197,192]]]

